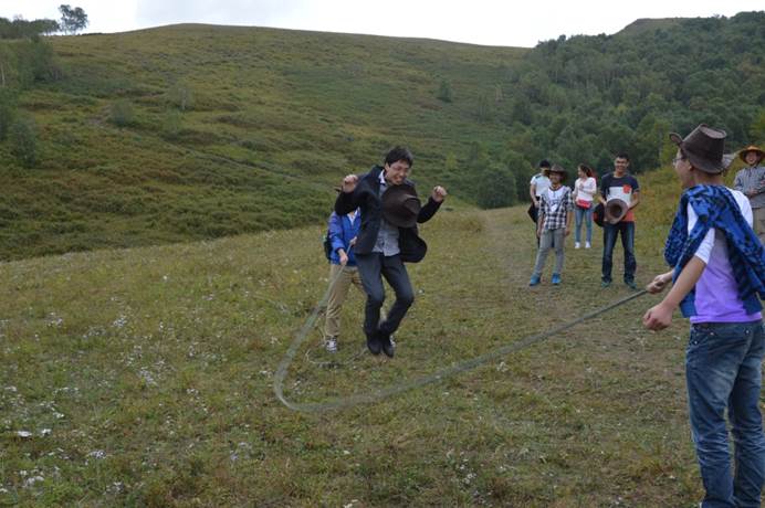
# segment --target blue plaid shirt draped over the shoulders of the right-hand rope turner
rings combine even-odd
[[[688,204],[699,216],[688,232]],[[695,254],[710,227],[725,233],[727,258],[738,283],[738,296],[744,301],[746,314],[762,309],[757,296],[765,297],[765,250],[759,239],[741,214],[738,204],[723,186],[695,186],[680,197],[680,208],[667,237],[664,260],[674,266],[677,279],[693,254]],[[695,288],[680,304],[683,316],[695,315],[693,305]]]

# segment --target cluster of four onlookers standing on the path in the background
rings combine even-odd
[[[611,285],[614,247],[618,236],[625,250],[625,284],[637,289],[635,272],[635,214],[632,209],[640,203],[640,184],[628,172],[629,156],[619,154],[614,161],[614,171],[604,174],[598,187],[593,168],[585,163],[577,167],[577,179],[574,188],[564,186],[567,173],[564,168],[547,160],[539,162],[539,172],[532,177],[528,193],[532,199],[530,216],[536,225],[537,254],[532,272],[530,286],[542,282],[542,271],[547,254],[555,248],[555,267],[551,283],[562,283],[564,246],[570,234],[572,218],[575,218],[574,248],[581,247],[581,227],[585,226],[585,248],[593,244],[593,215],[596,204],[602,204],[599,219],[604,227],[604,251],[601,266],[601,286]],[[618,210],[618,213],[614,213]],[[608,212],[608,213],[607,213]],[[605,218],[602,215],[606,215]]]

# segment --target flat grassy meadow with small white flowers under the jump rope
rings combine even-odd
[[[662,268],[678,184],[641,178],[638,282]],[[645,296],[442,383],[300,414],[273,373],[326,287],[319,227],[0,264],[0,502],[20,506],[691,506],[687,325],[640,325]],[[442,210],[409,271],[394,360],[344,308],[335,368],[311,334],[289,398],[390,387],[629,294],[599,287],[601,235],[530,289],[522,207]],[[453,248],[459,245],[459,248]],[[617,250],[615,279],[619,281]]]

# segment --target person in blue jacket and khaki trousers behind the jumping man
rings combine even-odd
[[[345,215],[332,212],[329,215],[328,236],[332,244],[329,253],[329,299],[324,322],[324,348],[327,352],[337,351],[337,337],[340,332],[340,308],[348,296],[348,288],[353,284],[359,290],[361,277],[356,267],[356,254],[353,246],[356,243],[361,215],[358,209],[352,210]]]

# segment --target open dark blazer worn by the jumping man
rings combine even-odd
[[[356,239],[354,247],[356,254],[369,254],[377,243],[377,234],[382,222],[382,201],[380,193],[380,172],[382,167],[375,166],[371,170],[359,177],[356,189],[353,192],[340,192],[335,201],[335,213],[344,215],[357,208],[361,209],[361,229]],[[415,183],[406,180],[402,186],[410,186],[415,189]],[[417,222],[422,223],[432,218],[441,203],[432,198],[420,209]],[[425,257],[428,245],[417,233],[417,226],[398,229],[398,247],[401,251],[401,261],[417,263]]]

